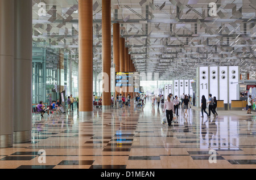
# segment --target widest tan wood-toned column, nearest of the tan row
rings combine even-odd
[[[93,115],[93,0],[79,0],[79,112]]]

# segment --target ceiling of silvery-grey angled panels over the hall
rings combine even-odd
[[[46,16],[38,14],[46,3]],[[256,72],[254,0],[112,0],[112,24],[120,23],[134,66],[162,80],[193,79],[198,66],[240,66]],[[78,55],[78,0],[33,1],[33,39]],[[101,1],[93,1],[94,70],[101,71]],[[113,32],[112,32],[113,35]]]

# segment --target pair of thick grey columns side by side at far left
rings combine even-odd
[[[0,1],[0,148],[31,141],[32,0]]]

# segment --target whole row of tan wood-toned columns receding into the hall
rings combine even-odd
[[[80,115],[93,115],[93,1],[79,1],[79,98]],[[102,108],[111,107],[111,0],[102,1]],[[125,38],[120,37],[120,25],[113,24],[113,60],[115,72],[134,72],[129,49],[125,47]],[[106,80],[108,78],[108,80]],[[115,93],[119,94],[119,89]],[[129,89],[133,92],[133,89]],[[125,93],[125,96],[128,92]]]

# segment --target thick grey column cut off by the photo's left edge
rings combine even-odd
[[[14,1],[0,1],[0,148],[13,146]]]

